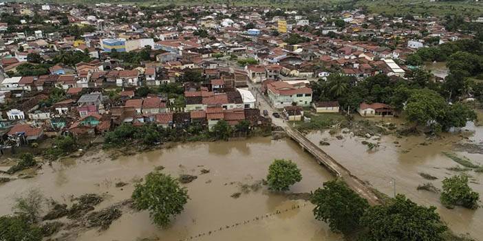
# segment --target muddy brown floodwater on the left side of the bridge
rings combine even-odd
[[[342,240],[330,232],[324,222],[314,220],[313,206],[304,200],[272,194],[266,187],[243,192],[241,185],[264,179],[268,165],[273,159],[281,158],[296,162],[303,176],[290,192],[310,192],[333,179],[290,139],[274,141],[260,137],[246,141],[180,144],[115,160],[103,151],[88,152],[76,160],[44,165],[41,173],[32,179],[0,185],[0,214],[10,214],[13,197],[32,187],[38,187],[45,196],[63,203],[69,203],[71,196],[103,194],[107,200],[96,207],[102,209],[129,198],[133,180],[163,165],[162,172],[173,176],[198,176],[192,183],[184,184],[191,199],[170,227],[160,229],[152,225],[147,211],[124,211],[106,231],[92,229],[70,239],[190,240],[204,234],[193,240]],[[202,169],[210,172],[200,174]],[[122,189],[115,187],[119,181],[129,185]],[[241,192],[239,198],[230,197],[236,192]],[[276,214],[277,211],[281,214]]]

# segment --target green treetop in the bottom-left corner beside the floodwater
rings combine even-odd
[[[42,232],[32,225],[27,218],[21,216],[0,217],[0,240],[6,241],[40,241]]]

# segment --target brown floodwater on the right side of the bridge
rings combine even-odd
[[[390,121],[391,119],[387,118],[387,122]],[[396,122],[398,121],[396,119]],[[439,194],[416,190],[418,185],[428,182],[441,188],[441,181],[444,177],[460,174],[460,172],[447,170],[458,163],[446,157],[442,152],[454,151],[453,145],[456,143],[482,143],[482,127],[475,127],[469,123],[461,133],[442,135],[438,139],[425,139],[422,136],[397,138],[388,135],[377,140],[376,137],[366,139],[350,134],[343,134],[343,137],[339,140],[331,136],[328,131],[308,134],[308,138],[315,143],[319,143],[321,140],[330,142],[330,146],[321,146],[321,148],[360,179],[369,181],[379,191],[389,196],[393,196],[395,191],[405,194],[416,203],[433,205],[438,208],[442,219],[455,233],[470,233],[476,240],[483,240],[482,208],[477,210],[460,207],[447,209],[440,204]],[[372,143],[380,142],[379,148],[367,150],[367,146],[361,144],[361,141],[367,140]],[[455,153],[468,157],[473,163],[483,164],[482,154],[471,154],[465,151]],[[438,179],[425,180],[418,174],[419,172],[431,174]],[[483,196],[483,185],[480,184],[483,181],[483,173],[467,171],[466,174],[471,176],[470,186],[473,190]],[[395,190],[393,181],[396,182]]]

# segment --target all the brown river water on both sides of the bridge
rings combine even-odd
[[[368,151],[361,144],[365,138],[353,137],[350,133],[343,134],[343,137],[339,140],[327,131],[308,134],[308,138],[315,143],[328,140],[330,146],[321,146],[325,152],[381,192],[392,196],[394,179],[397,193],[405,194],[422,205],[436,206],[442,219],[455,233],[469,233],[476,240],[483,240],[483,208],[446,209],[440,205],[438,194],[416,190],[418,185],[426,182],[441,188],[445,176],[457,174],[445,169],[454,167],[456,163],[442,152],[451,151],[453,144],[458,141],[482,142],[482,127],[470,123],[461,133],[442,135],[442,138],[433,140],[425,140],[422,136],[397,138],[388,135],[379,140],[380,147],[375,151]],[[376,142],[374,137],[370,141]],[[398,144],[394,144],[395,141]],[[456,153],[474,163],[483,164],[481,154]],[[343,240],[341,236],[330,232],[324,222],[314,220],[313,206],[306,201],[289,200],[286,196],[268,192],[266,187],[241,194],[239,198],[230,197],[235,192],[241,192],[241,184],[253,184],[264,179],[268,165],[277,158],[292,159],[301,168],[303,180],[292,186],[290,192],[310,192],[321,187],[324,181],[334,178],[290,139],[275,141],[256,137],[246,141],[180,144],[170,149],[122,156],[115,160],[111,160],[109,154],[103,151],[87,152],[76,160],[44,165],[43,170],[32,179],[19,179],[0,185],[0,214],[10,214],[13,198],[32,187],[63,203],[69,203],[71,196],[104,194],[107,199],[96,207],[102,209],[129,198],[133,191],[133,180],[163,165],[165,169],[162,172],[173,176],[198,176],[192,183],[184,184],[191,200],[170,227],[160,229],[151,224],[146,211],[127,209],[106,231],[91,229],[69,239],[190,240],[204,233],[204,236],[192,240]],[[210,172],[200,174],[203,168]],[[427,181],[418,172],[437,176],[438,180]],[[479,184],[483,174],[473,171],[467,174],[473,180],[470,183],[473,190],[483,196],[483,185]],[[121,190],[114,185],[119,181],[129,185]],[[281,214],[275,214],[277,211],[281,211]],[[271,215],[266,217],[266,214]],[[244,223],[247,220],[250,222]],[[220,227],[224,228],[220,231]]]

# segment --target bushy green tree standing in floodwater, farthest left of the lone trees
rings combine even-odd
[[[141,210],[149,210],[156,225],[167,227],[171,217],[180,214],[189,196],[185,187],[176,179],[159,172],[146,175],[144,184],[136,184],[132,194],[134,205]]]

